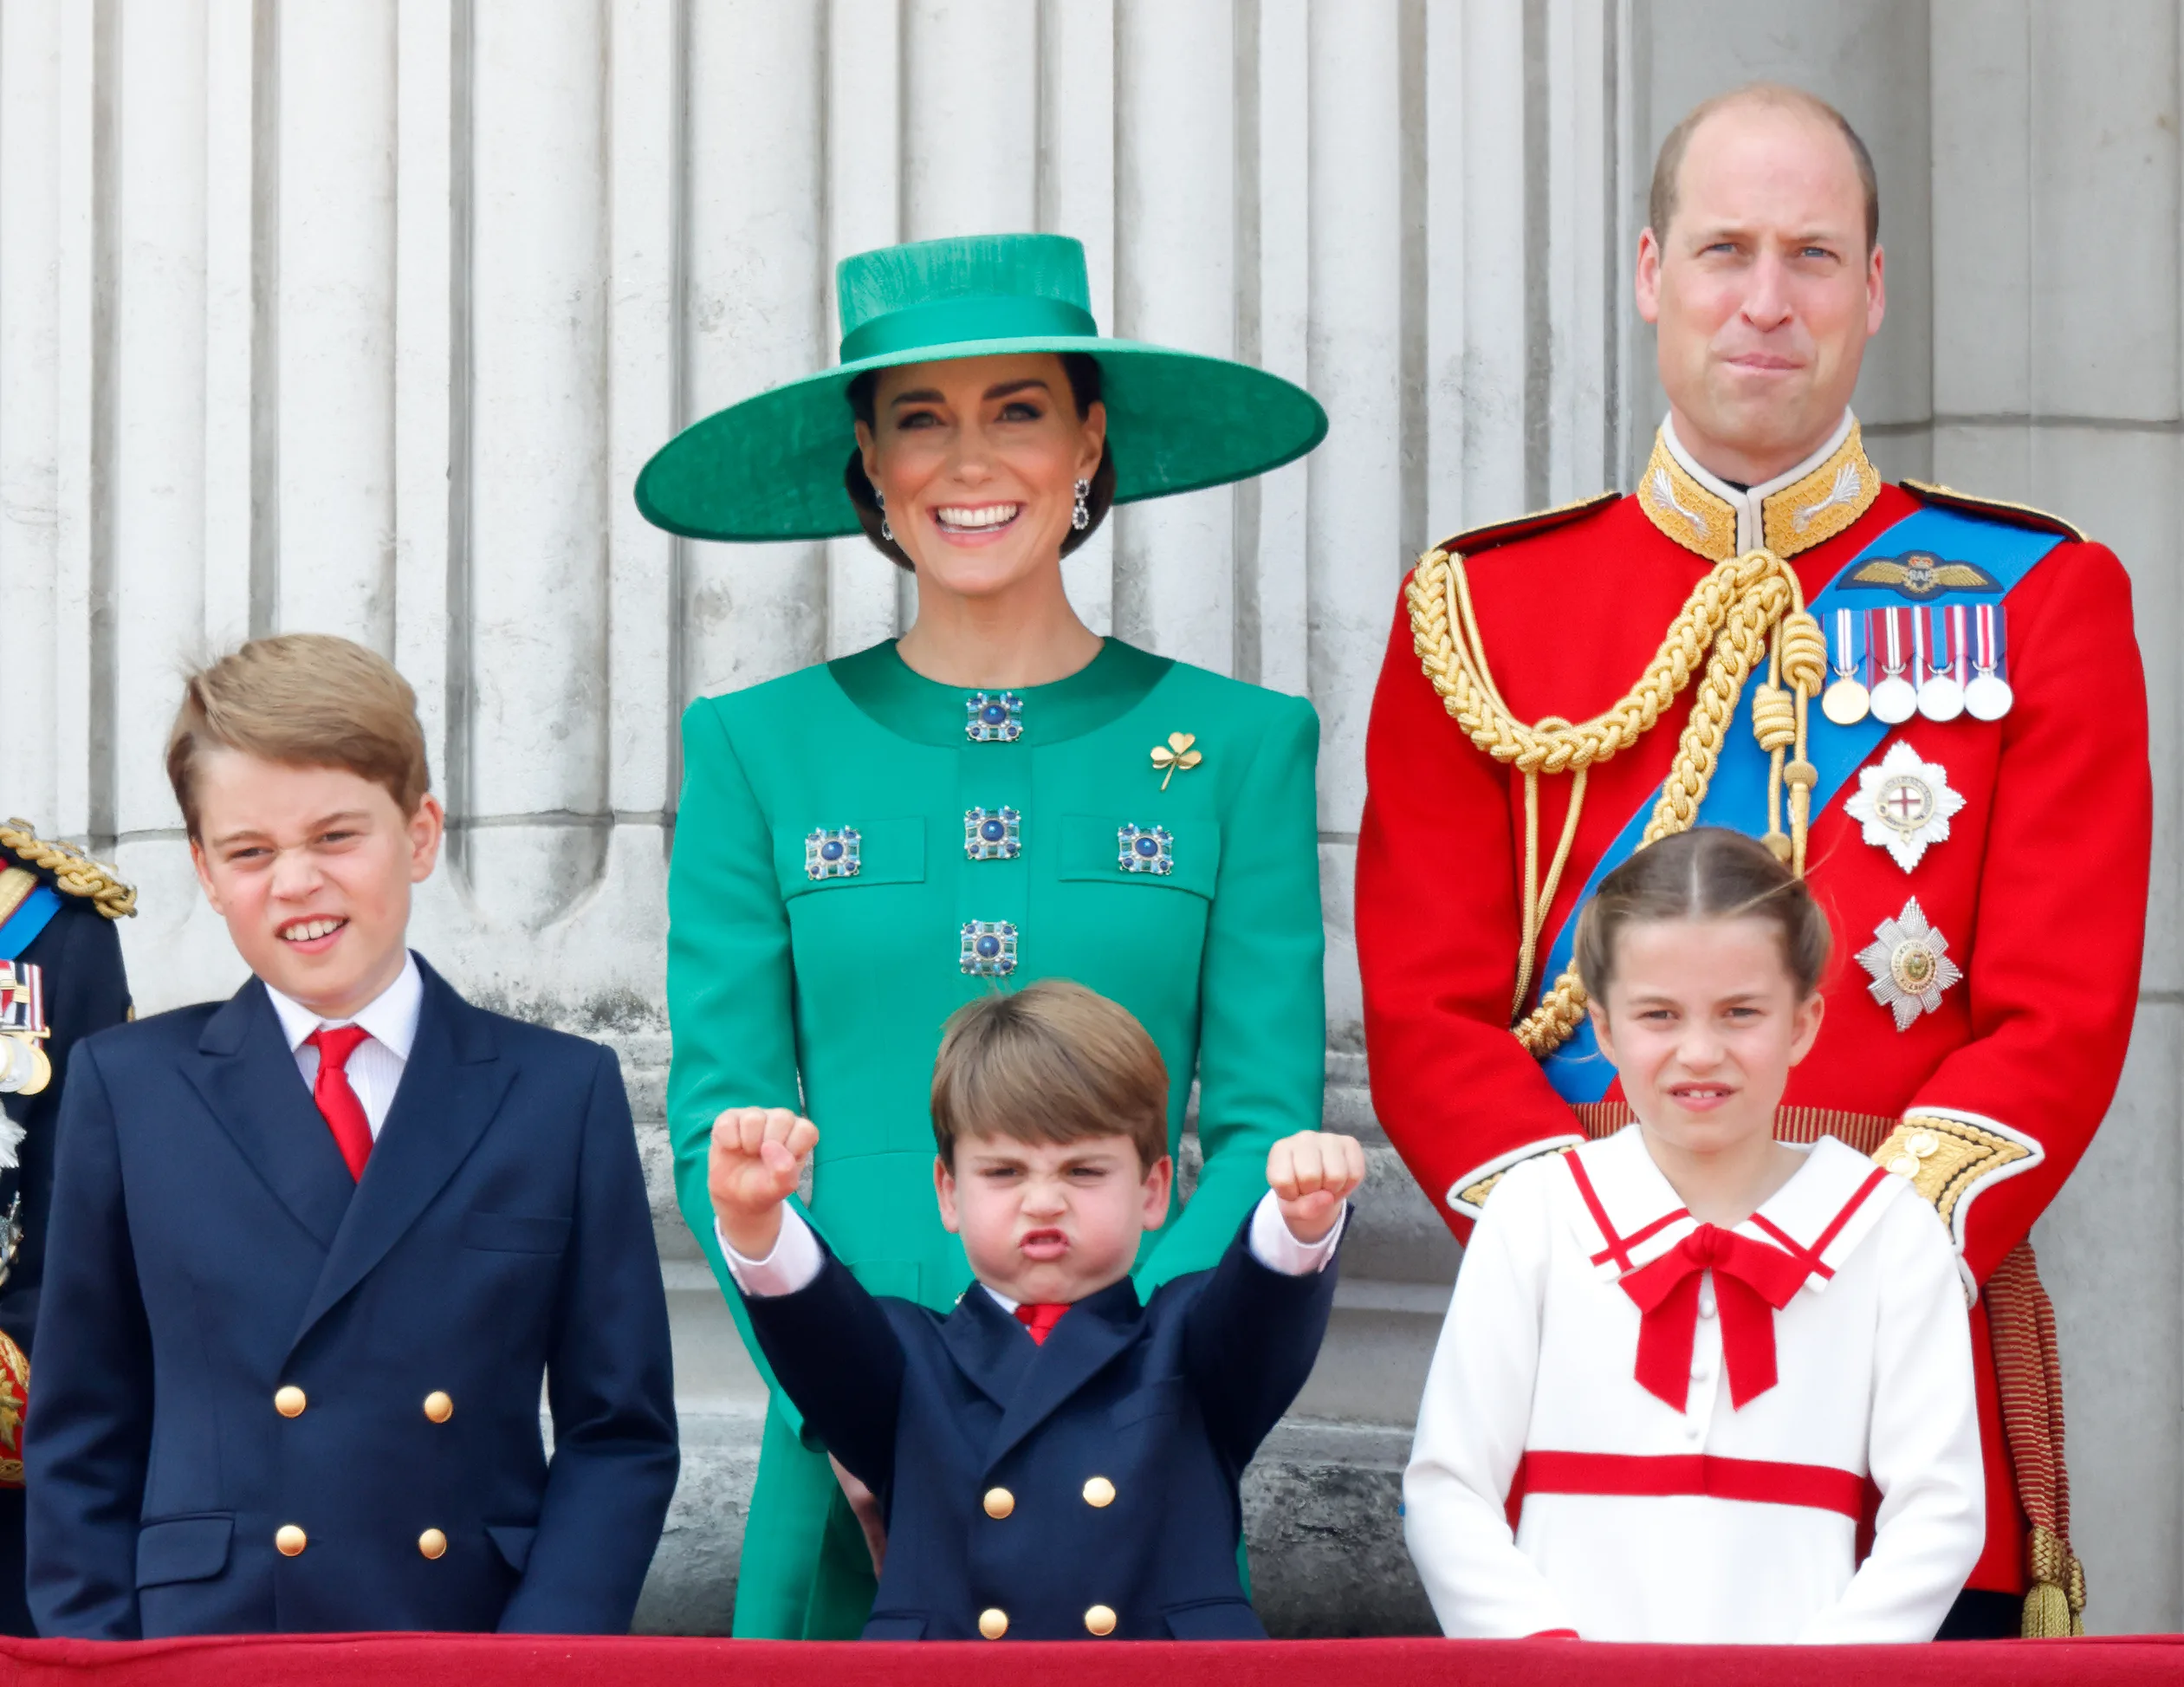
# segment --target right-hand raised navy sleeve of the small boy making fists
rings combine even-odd
[[[1214,1444],[1241,1471],[1313,1375],[1334,1272],[1284,1276],[1251,1257],[1251,1219],[1184,1311],[1184,1370]]]

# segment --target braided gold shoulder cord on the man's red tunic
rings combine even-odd
[[[1693,699],[1690,723],[1677,741],[1675,760],[1662,782],[1653,817],[1647,822],[1640,848],[1671,833],[1686,830],[1699,815],[1706,787],[1714,778],[1721,736],[1736,717],[1745,680],[1767,658],[1767,677],[1752,699],[1752,728],[1767,769],[1767,848],[1804,876],[1804,835],[1811,819],[1813,784],[1819,780],[1806,760],[1806,706],[1819,695],[1828,673],[1828,645],[1819,623],[1806,614],[1797,575],[1773,551],[1747,551],[1721,562],[1684,601],[1669,623],[1669,636],[1638,675],[1638,684],[1618,704],[1590,721],[1564,721],[1548,715],[1531,725],[1518,721],[1494,686],[1487,666],[1479,618],[1472,612],[1472,588],[1463,557],[1450,551],[1428,551],[1411,573],[1406,588],[1411,636],[1420,666],[1455,717],[1463,734],[1494,760],[1524,776],[1524,913],[1516,962],[1516,999],[1509,1005],[1516,1040],[1533,1055],[1548,1055],[1577,1031],[1586,1014],[1586,988],[1577,968],[1568,968],[1540,996],[1531,1014],[1524,996],[1538,966],[1540,931],[1555,900],[1562,870],[1577,837],[1577,817],[1586,800],[1586,771],[1642,739],[1664,708],[1690,684],[1706,664],[1699,695]],[[1771,636],[1771,638],[1769,638]],[[1540,881],[1540,776],[1570,774],[1570,811],[1562,822],[1562,839]],[[1782,830],[1782,787],[1789,784],[1789,833]]]

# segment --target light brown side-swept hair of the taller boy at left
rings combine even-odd
[[[404,817],[432,787],[417,693],[384,656],[332,634],[253,638],[183,680],[166,734],[166,780],[192,839],[205,750],[343,767],[382,787]]]

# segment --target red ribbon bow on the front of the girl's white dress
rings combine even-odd
[[[1690,1399],[1690,1348],[1699,1335],[1699,1281],[1714,1274],[1721,1359],[1730,1405],[1776,1385],[1773,1316],[1804,1287],[1806,1265],[1734,1230],[1701,1224],[1675,1248],[1623,1278],[1638,1302],[1638,1385],[1677,1412]]]

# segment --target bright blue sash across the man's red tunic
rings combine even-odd
[[[1839,568],[1826,590],[1806,603],[1806,607],[1819,618],[1821,629],[1826,629],[1837,610],[1900,607],[1911,601],[1992,603],[1998,597],[2007,597],[2007,592],[2031,573],[2033,564],[2057,544],[2062,544],[2062,540],[2055,533],[2040,533],[2027,527],[2011,527],[2007,522],[1959,516],[1950,509],[1924,507],[1904,516],[1867,544],[1850,564]],[[1850,583],[1850,577],[1861,564],[1874,557],[1900,557],[1913,551],[1946,557],[1950,562],[1970,562],[1994,577],[1994,588],[1977,592],[1946,590],[1931,597],[1909,599]],[[1760,750],[1758,739],[1752,736],[1752,699],[1758,695],[1758,684],[1754,684],[1756,677],[1758,675],[1745,680],[1745,695],[1736,701],[1736,719],[1730,723],[1728,739],[1721,745],[1721,758],[1714,763],[1714,778],[1706,787],[1706,800],[1699,804],[1697,824],[1730,826],[1738,833],[1760,837],[1767,830],[1769,756]],[[1894,728],[1885,721],[1876,721],[1872,715],[1856,725],[1835,725],[1835,721],[1824,717],[1817,708],[1813,710],[1806,754],[1819,771],[1819,782],[1813,787],[1815,819],[1821,809],[1835,800],[1843,780],[1865,765],[1865,758],[1889,732],[1894,732]],[[1638,839],[1645,835],[1658,800],[1660,791],[1655,789],[1647,795],[1645,806],[1629,817],[1621,833],[1616,833],[1616,841],[1607,846],[1607,852],[1592,868],[1583,889],[1577,894],[1577,903],[1570,905],[1570,918],[1562,922],[1562,931],[1555,933],[1555,942],[1546,951],[1546,959],[1540,964],[1542,981],[1551,983],[1562,977],[1564,968],[1568,968],[1570,946],[1577,940],[1577,911],[1592,900],[1592,892],[1601,887],[1601,881],[1610,872],[1636,854]],[[1579,1101],[1599,1101],[1607,1095],[1607,1086],[1616,1077],[1616,1069],[1601,1055],[1601,1045],[1592,1036],[1590,1021],[1579,1021],[1577,1036],[1546,1055],[1540,1064],[1546,1071],[1546,1082],[1553,1084],[1555,1093],[1572,1106]]]

